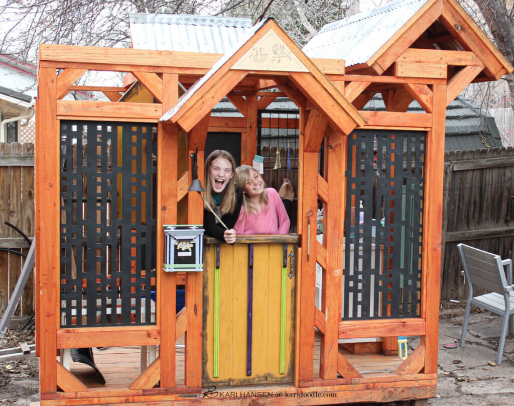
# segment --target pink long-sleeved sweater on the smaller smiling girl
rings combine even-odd
[[[280,199],[277,190],[266,188],[268,192],[269,206],[266,206],[258,214],[248,213],[245,217],[245,207],[241,206],[239,217],[234,225],[236,234],[287,234],[289,232],[289,217],[284,203]]]

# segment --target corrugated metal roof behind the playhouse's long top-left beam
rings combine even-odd
[[[130,13],[132,47],[225,54],[251,29],[250,19]]]

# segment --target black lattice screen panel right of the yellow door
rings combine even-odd
[[[348,137],[343,320],[419,317],[425,133]]]

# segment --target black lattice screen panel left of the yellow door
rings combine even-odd
[[[155,324],[157,129],[61,121],[61,326]]]

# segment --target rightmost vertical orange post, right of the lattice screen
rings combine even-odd
[[[437,340],[439,331],[439,282],[441,255],[441,224],[443,221],[443,176],[445,147],[445,116],[446,116],[446,86],[434,85],[434,113],[432,132],[427,137],[426,152],[426,185],[424,207],[429,208],[425,215],[423,230],[423,264],[421,282],[421,316],[426,317],[426,353],[425,373],[437,371]],[[427,202],[430,204],[427,205]],[[423,288],[425,287],[425,288]],[[423,303],[425,306],[423,306]],[[401,334],[405,335],[405,334]]]

